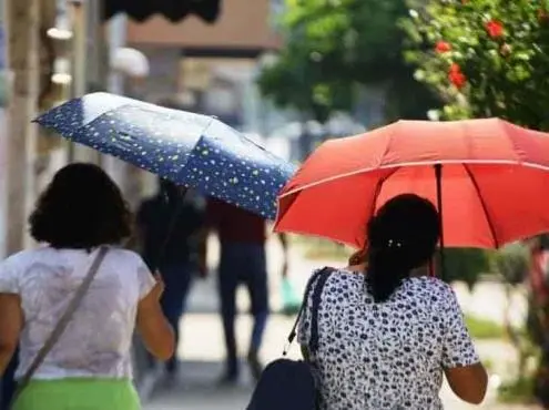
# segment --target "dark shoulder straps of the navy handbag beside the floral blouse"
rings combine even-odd
[[[313,285],[316,283],[315,290],[313,293],[313,307],[312,307],[312,317],[311,317],[311,339],[308,342],[308,348],[311,353],[316,353],[318,349],[318,308],[321,307],[322,291],[324,289],[324,285],[328,279],[329,275],[334,273],[334,268],[325,267],[318,271],[316,271],[307,283],[305,287],[305,294],[303,296],[302,306],[299,311],[297,312],[297,317],[295,319],[294,326],[292,326],[292,330],[289,331],[286,347],[284,348],[283,356],[286,356],[289,349],[289,346],[294,342],[294,339],[297,335],[297,326],[299,325],[299,320],[302,319],[303,312],[307,308],[308,297],[311,291],[313,290]]]

